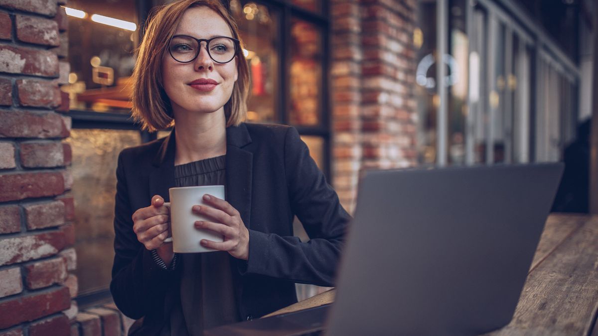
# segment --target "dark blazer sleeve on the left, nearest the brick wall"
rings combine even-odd
[[[121,152],[116,171],[115,256],[110,291],[118,309],[132,319],[139,319],[148,311],[163,306],[164,295],[176,277],[177,270],[164,270],[157,265],[151,252],[137,240],[133,232],[133,209],[123,161]]]

